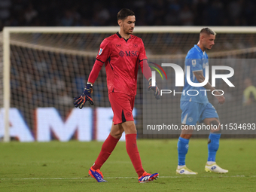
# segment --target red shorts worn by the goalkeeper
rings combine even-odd
[[[135,96],[128,96],[124,93],[109,93],[108,99],[114,112],[114,125],[124,123],[133,119],[133,106]]]

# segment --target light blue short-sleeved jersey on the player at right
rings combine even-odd
[[[187,83],[187,66],[190,66],[190,80],[193,83],[199,83],[193,72],[203,71],[203,76],[206,77],[206,66],[209,66],[208,55],[206,52],[200,49],[197,44],[192,47],[186,56],[185,59],[185,84],[183,87],[183,93],[181,94],[181,102],[199,102],[199,103],[208,103],[208,97],[206,89],[204,87],[194,87]],[[190,90],[189,92],[187,92]],[[192,91],[197,90],[197,91]],[[188,93],[188,94],[187,94]],[[190,96],[197,95],[197,96]]]

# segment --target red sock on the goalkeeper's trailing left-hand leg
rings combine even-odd
[[[105,142],[102,145],[102,151],[100,151],[98,158],[93,164],[94,170],[100,169],[103,163],[105,163],[105,161],[108,160],[108,157],[111,155],[118,141],[119,139],[114,138],[110,134],[108,135],[108,138],[105,139]]]

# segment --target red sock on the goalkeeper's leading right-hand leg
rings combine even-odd
[[[127,134],[126,138],[126,151],[133,163],[134,169],[136,170],[138,176],[142,176],[144,169],[142,168],[142,160],[139,157],[139,151],[136,142],[137,134]]]

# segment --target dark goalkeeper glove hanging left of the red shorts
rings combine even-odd
[[[87,84],[87,87],[84,87],[84,93],[81,94],[81,96],[75,97],[74,100],[74,105],[77,108],[83,108],[84,103],[89,101],[90,105],[93,105],[93,99],[90,96],[90,93],[93,93],[93,85],[92,84]]]

